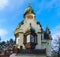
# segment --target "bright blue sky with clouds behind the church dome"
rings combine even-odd
[[[60,0],[0,0],[1,41],[14,39],[14,30],[24,19],[23,14],[29,2],[43,29],[48,24],[53,38],[60,35]]]

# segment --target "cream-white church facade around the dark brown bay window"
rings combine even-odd
[[[26,9],[26,11],[29,9]],[[32,10],[32,9],[31,9]],[[25,13],[26,13],[25,11]],[[46,48],[46,53],[47,56],[51,56],[51,37],[49,36],[50,33],[48,34],[49,38],[44,36],[46,31],[42,30],[41,24],[39,24],[36,21],[35,14],[28,12],[28,14],[25,15],[24,21],[22,22],[23,24],[18,24],[16,30],[15,30],[15,38],[16,38],[16,45],[17,47],[20,48],[20,46],[25,49],[24,46],[24,33],[26,31],[30,30],[30,28],[34,28],[35,33],[37,34],[37,45],[35,49],[44,49]],[[47,29],[49,32],[49,30]],[[33,38],[33,37],[32,37]],[[32,39],[33,40],[33,39]],[[27,42],[30,42],[30,35],[27,36]]]

